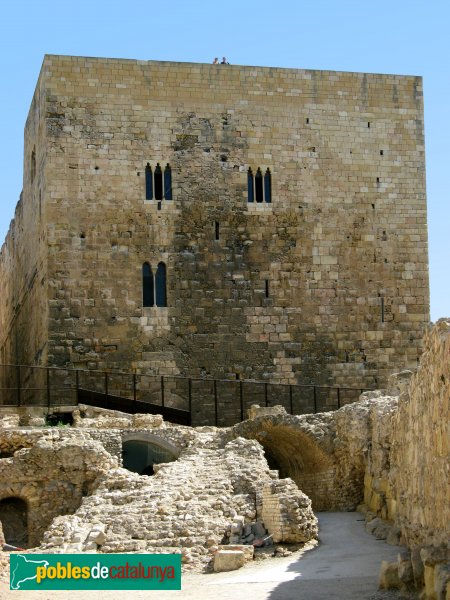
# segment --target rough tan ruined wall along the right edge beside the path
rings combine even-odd
[[[450,320],[441,319],[427,332],[416,373],[400,374],[393,383],[398,400],[372,414],[365,502],[371,516],[393,524],[391,534],[410,550],[399,559],[398,585],[414,583],[424,587],[424,598],[445,598],[450,587]]]

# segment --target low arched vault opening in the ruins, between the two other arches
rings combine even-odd
[[[152,434],[129,434],[122,439],[122,464],[139,475],[153,475],[155,464],[172,462],[179,450]]]

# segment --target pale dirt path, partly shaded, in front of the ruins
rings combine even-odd
[[[398,548],[366,533],[358,513],[320,513],[320,544],[301,558],[253,563],[239,571],[187,574],[178,592],[30,592],[0,589],[3,600],[393,600],[377,591],[382,560]]]

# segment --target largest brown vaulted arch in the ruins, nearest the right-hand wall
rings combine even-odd
[[[290,477],[309,498],[314,510],[333,510],[335,467],[332,457],[307,433],[289,425],[261,424],[253,437],[264,448],[271,469]]]

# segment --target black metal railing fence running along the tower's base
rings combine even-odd
[[[292,415],[336,410],[357,400],[363,391],[313,384],[0,365],[0,406],[53,408],[88,402],[131,413],[162,412],[166,418],[175,415],[175,419],[176,411],[180,411],[189,415],[181,415],[182,422],[192,425],[233,425],[247,418],[252,404],[282,405]]]

